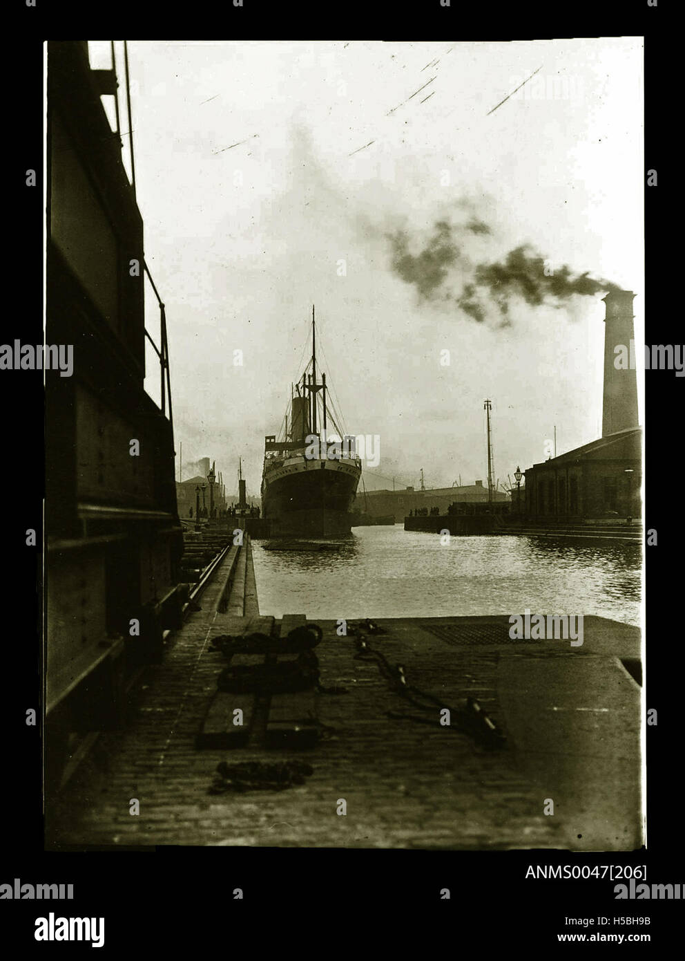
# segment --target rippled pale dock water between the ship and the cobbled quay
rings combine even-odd
[[[253,541],[262,614],[309,618],[599,614],[640,624],[642,545],[453,537],[356,528],[340,551],[265,551]]]

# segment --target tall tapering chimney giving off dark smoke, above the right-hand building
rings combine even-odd
[[[631,290],[612,290],[603,298],[606,307],[604,323],[604,403],[602,437],[616,431],[637,427],[637,373],[634,369],[618,369],[615,348],[625,347],[624,357],[634,357],[630,341],[634,339]]]

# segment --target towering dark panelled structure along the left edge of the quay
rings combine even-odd
[[[74,356],[73,376],[45,386],[49,789],[99,731],[124,723],[130,683],[161,657],[181,604],[165,311],[159,301],[157,346],[146,328],[143,283],[152,279],[122,160],[111,51],[109,70],[91,69],[86,41],[51,41],[47,52],[46,337],[73,345]],[[130,104],[126,44],[124,53]],[[117,104],[116,130],[106,96]],[[146,337],[159,357],[161,407],[145,391]]]

